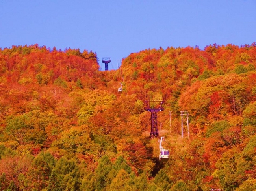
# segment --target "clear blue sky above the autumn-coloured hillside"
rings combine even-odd
[[[0,0],[0,47],[46,45],[111,57],[256,41],[256,0]]]

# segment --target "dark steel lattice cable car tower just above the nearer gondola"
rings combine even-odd
[[[150,111],[151,112],[151,131],[150,131],[150,138],[154,138],[154,137],[159,137],[159,132],[158,132],[158,127],[157,127],[157,113],[159,111],[163,111],[163,107],[161,107],[163,101],[161,101],[160,107],[159,108],[150,108],[149,106],[149,101],[148,102],[148,106],[145,107],[144,109],[146,111]],[[158,101],[151,101],[151,102],[158,102]]]

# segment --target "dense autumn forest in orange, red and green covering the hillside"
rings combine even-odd
[[[111,71],[93,51],[0,49],[0,190],[210,189],[256,190],[255,42],[146,49]]]

